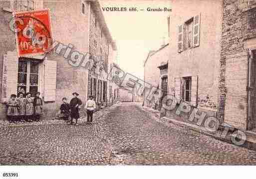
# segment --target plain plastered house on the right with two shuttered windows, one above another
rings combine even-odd
[[[168,93],[214,116],[219,99],[221,19],[221,0],[172,1]]]

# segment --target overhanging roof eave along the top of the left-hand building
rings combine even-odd
[[[110,41],[113,50],[116,50],[116,43],[110,34],[109,28],[108,28],[105,18],[104,18],[104,15],[101,11],[101,6],[100,6],[99,1],[98,0],[90,0],[90,2],[91,2],[91,7],[92,7],[93,12],[98,17],[97,19],[99,20],[99,24],[100,24],[101,28],[103,29],[103,33],[106,35],[107,39]]]

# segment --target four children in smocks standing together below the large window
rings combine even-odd
[[[11,123],[17,121],[39,121],[42,114],[42,99],[40,93],[36,92],[36,96],[31,98],[31,93],[19,93],[18,97],[15,94],[10,95],[10,99],[6,103],[7,119]]]

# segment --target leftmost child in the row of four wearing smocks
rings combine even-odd
[[[13,122],[15,123],[15,120],[17,119],[18,116],[18,102],[16,99],[16,95],[15,94],[11,94],[10,95],[10,99],[7,102],[7,118],[9,120],[9,122]]]

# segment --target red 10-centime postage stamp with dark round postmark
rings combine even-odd
[[[49,9],[13,12],[19,56],[50,51],[52,44]]]

